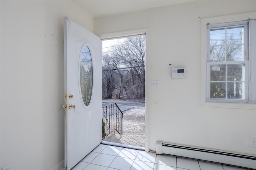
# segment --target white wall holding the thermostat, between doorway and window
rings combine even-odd
[[[254,12],[256,1],[193,1],[95,20],[97,35],[148,28],[146,35],[146,131],[148,149],[166,141],[256,155],[256,110],[200,104],[200,18]],[[169,66],[169,64],[172,64]],[[171,67],[186,78],[171,79]],[[158,88],[151,81],[159,80]],[[155,104],[154,101],[158,101]],[[254,107],[255,108],[255,107]]]

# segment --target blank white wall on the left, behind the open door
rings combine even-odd
[[[12,170],[64,166],[63,17],[94,31],[72,1],[1,3],[1,161]]]

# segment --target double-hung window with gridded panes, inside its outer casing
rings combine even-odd
[[[207,97],[248,101],[247,22],[208,26]]]

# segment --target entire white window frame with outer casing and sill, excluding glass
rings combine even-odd
[[[256,49],[255,47],[249,47],[249,53],[254,54],[250,56],[250,61],[242,61],[245,64],[245,72],[249,72],[248,79],[245,81],[248,84],[248,89],[246,89],[246,96],[244,100],[211,100],[207,96],[207,91],[209,86],[207,83],[207,78],[209,77],[209,70],[207,70],[207,25],[209,24],[228,24],[230,22],[240,22],[247,20],[256,19],[256,12],[250,12],[245,14],[235,14],[230,16],[221,16],[214,18],[202,18],[201,19],[201,105],[203,107],[224,107],[224,108],[241,108],[241,109],[256,109]],[[252,27],[254,25],[254,27]],[[256,21],[249,25],[249,30],[256,30]],[[215,25],[218,26],[218,25]],[[256,45],[256,31],[250,31],[249,44]],[[236,62],[235,62],[236,63]],[[238,62],[239,63],[239,62]],[[241,62],[240,62],[241,63]],[[207,75],[208,74],[208,75]]]

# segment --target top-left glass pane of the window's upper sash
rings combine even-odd
[[[210,46],[225,44],[225,29],[210,30]]]

